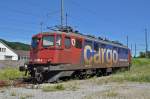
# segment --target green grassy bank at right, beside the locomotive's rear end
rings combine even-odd
[[[108,77],[107,80],[123,82],[150,82],[150,59],[136,58],[132,60],[129,71],[118,72]]]

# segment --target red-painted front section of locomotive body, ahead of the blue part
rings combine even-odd
[[[83,39],[69,33],[43,33],[33,36],[30,64],[80,64]]]

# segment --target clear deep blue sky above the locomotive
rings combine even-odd
[[[101,36],[145,49],[150,42],[150,0],[64,0],[68,24],[83,34]],[[60,25],[60,0],[1,0],[0,38],[30,44],[31,37]],[[65,22],[64,22],[65,23]],[[150,46],[150,45],[149,45]],[[150,47],[149,47],[150,49]]]

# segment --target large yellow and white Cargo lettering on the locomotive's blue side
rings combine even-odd
[[[84,62],[85,65],[105,64],[111,66],[118,62],[118,52],[112,49],[99,48],[96,52],[92,47],[86,45],[84,48]]]

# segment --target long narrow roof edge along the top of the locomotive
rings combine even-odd
[[[121,48],[125,48],[125,49],[128,49],[127,46],[125,45],[121,45],[121,44],[117,44],[117,43],[114,43],[112,41],[109,41],[109,40],[101,40],[101,39],[98,39],[98,38],[94,38],[94,37],[90,37],[88,35],[84,35],[84,34],[80,34],[80,33],[72,33],[72,32],[60,32],[60,31],[54,31],[54,32],[43,32],[42,34],[52,34],[52,33],[57,33],[57,34],[66,34],[66,35],[71,35],[71,36],[77,36],[77,37],[80,37],[80,38],[85,38],[86,40],[91,40],[91,41],[96,41],[96,42],[101,42],[101,43],[104,43],[104,44],[109,44],[109,45],[113,45],[113,46],[116,46],[116,47],[121,47]],[[36,35],[35,35],[36,36]]]

